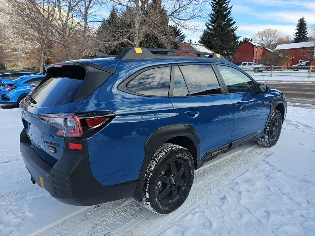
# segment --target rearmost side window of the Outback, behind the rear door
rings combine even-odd
[[[127,89],[143,95],[168,96],[170,76],[170,67],[146,70],[131,80]]]

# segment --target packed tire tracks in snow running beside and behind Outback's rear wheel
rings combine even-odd
[[[253,143],[251,144],[253,145]],[[249,148],[250,147],[250,148]],[[148,212],[141,203],[132,198],[87,207],[77,214],[46,226],[32,235],[71,236],[71,235],[140,235],[162,231],[163,224],[189,211],[201,199],[211,193],[211,189],[242,175],[251,165],[265,159],[270,153],[268,148],[258,145],[246,149],[236,148],[221,155],[211,165],[205,165],[195,173],[195,179],[189,197],[176,211],[166,216],[156,216]],[[143,227],[147,225],[150,227]]]

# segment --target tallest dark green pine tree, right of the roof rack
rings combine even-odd
[[[211,1],[212,13],[199,40],[199,43],[225,57],[235,54],[240,38],[235,33],[238,27],[234,26],[236,22],[231,17],[232,6],[229,3],[230,0]]]

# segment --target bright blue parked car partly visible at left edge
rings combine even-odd
[[[38,85],[45,75],[27,75],[15,80],[2,80],[0,84],[0,103],[19,104],[31,91],[32,85]]]

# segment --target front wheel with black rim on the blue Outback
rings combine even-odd
[[[281,133],[282,120],[281,112],[274,110],[269,118],[265,136],[257,139],[259,145],[271,147],[277,143]]]

